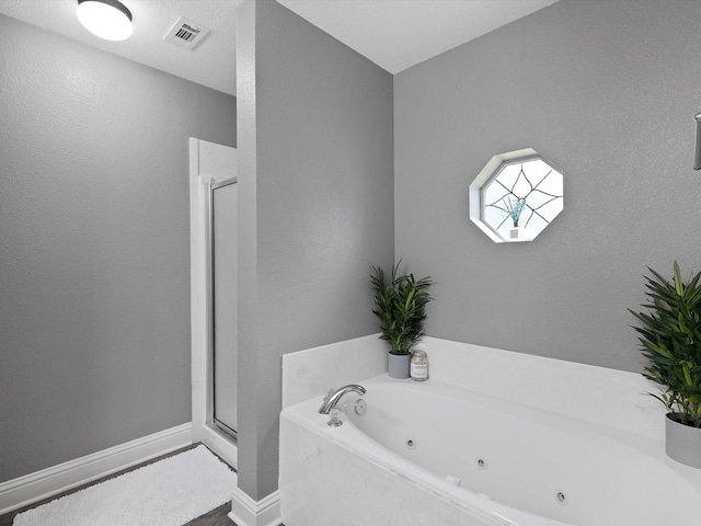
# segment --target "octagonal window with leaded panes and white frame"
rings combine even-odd
[[[563,207],[562,172],[531,148],[494,156],[470,185],[470,219],[497,243],[536,239]]]

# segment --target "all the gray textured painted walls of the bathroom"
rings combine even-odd
[[[392,239],[437,282],[430,335],[640,368],[641,274],[701,255],[698,2],[562,0],[395,76],[393,102],[389,73],[285,8],[242,12],[246,493],[276,485],[280,356],[377,331],[367,272]],[[186,137],[234,144],[235,102],[0,30],[2,481],[189,420]],[[468,185],[524,147],[564,170],[565,210],[496,245]]]

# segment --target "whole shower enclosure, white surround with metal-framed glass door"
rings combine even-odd
[[[189,138],[192,441],[238,466],[238,155]]]

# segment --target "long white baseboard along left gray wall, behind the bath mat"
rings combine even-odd
[[[192,441],[183,424],[0,483],[0,515],[165,455]]]

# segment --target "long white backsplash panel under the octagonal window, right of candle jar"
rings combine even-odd
[[[445,384],[658,441],[665,408],[637,373],[425,338],[429,375]]]

